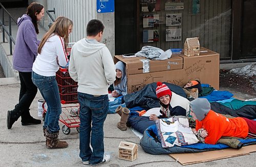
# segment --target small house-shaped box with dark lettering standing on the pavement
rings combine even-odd
[[[121,141],[118,149],[119,159],[133,161],[138,158],[138,146],[132,142]]]

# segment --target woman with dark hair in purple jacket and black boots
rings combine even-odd
[[[31,3],[27,9],[27,14],[18,18],[18,32],[16,44],[13,52],[13,68],[19,73],[20,91],[19,102],[15,108],[7,112],[7,128],[11,129],[19,116],[22,116],[22,125],[41,124],[41,120],[36,120],[29,113],[29,107],[34,100],[37,87],[32,82],[32,65],[37,56],[38,25],[37,21],[44,16],[44,6],[39,3]]]

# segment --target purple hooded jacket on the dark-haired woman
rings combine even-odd
[[[18,18],[18,32],[13,52],[13,68],[21,72],[31,72],[37,56],[39,41],[32,19],[27,14]]]

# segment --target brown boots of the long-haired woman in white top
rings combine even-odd
[[[67,148],[69,145],[67,144],[67,142],[62,142],[58,139],[59,136],[59,132],[56,133],[50,133],[47,129],[46,129],[46,141],[47,141],[47,145],[46,147],[48,149],[63,149],[63,148]]]

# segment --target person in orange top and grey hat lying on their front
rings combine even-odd
[[[196,120],[194,133],[200,133],[202,142],[215,145],[222,137],[256,137],[256,121],[244,117],[227,118],[210,109],[207,99],[190,102],[190,115]]]

